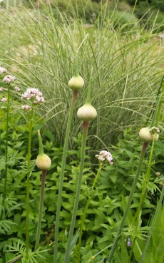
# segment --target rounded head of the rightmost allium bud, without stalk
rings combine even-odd
[[[159,138],[159,129],[158,128],[150,128],[150,127],[145,127],[142,128],[139,132],[140,139],[143,140],[144,143],[150,143],[154,140],[158,140]]]

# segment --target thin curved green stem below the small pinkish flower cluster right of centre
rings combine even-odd
[[[100,171],[101,171],[101,168],[102,168],[102,163],[100,163],[100,167],[98,168],[98,172],[96,174],[96,177],[93,181],[93,185],[91,187],[91,191],[89,193],[89,197],[88,197],[88,200],[87,200],[87,203],[86,203],[86,207],[85,207],[85,210],[83,212],[83,217],[82,217],[82,220],[81,220],[81,229],[80,229],[80,233],[79,233],[79,237],[78,237],[78,259],[77,259],[77,262],[80,263],[81,261],[81,238],[82,238],[82,234],[83,234],[83,225],[84,225],[84,222],[85,222],[85,219],[86,219],[86,213],[88,211],[88,207],[89,207],[89,204],[91,202],[91,198],[93,197],[93,189],[96,185],[96,182],[98,180],[98,177],[100,175]]]

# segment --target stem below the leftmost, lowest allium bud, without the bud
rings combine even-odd
[[[39,221],[36,231],[36,244],[35,244],[35,250],[39,247],[39,240],[41,235],[41,218],[42,218],[42,212],[43,212],[43,197],[44,197],[44,188],[45,188],[45,182],[46,182],[46,172],[47,170],[42,171],[41,176],[41,195],[40,195],[40,202],[39,202]]]

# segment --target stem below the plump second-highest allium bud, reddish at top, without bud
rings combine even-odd
[[[67,246],[66,246],[66,253],[64,257],[64,263],[70,262],[70,256],[71,256],[71,242],[73,238],[73,230],[75,227],[75,222],[76,222],[76,215],[77,215],[77,210],[78,210],[78,201],[81,193],[81,182],[82,182],[82,177],[83,177],[83,165],[84,165],[84,160],[85,160],[85,151],[86,151],[86,138],[87,138],[87,133],[88,133],[88,122],[83,122],[83,138],[82,138],[82,143],[81,143],[81,164],[80,164],[80,170],[79,170],[79,175],[78,175],[78,182],[77,182],[77,187],[76,187],[76,197],[75,197],[75,202],[73,206],[73,215],[71,218],[71,226],[68,234],[68,241],[67,241]]]

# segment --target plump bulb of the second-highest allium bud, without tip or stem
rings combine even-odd
[[[96,118],[97,111],[91,104],[86,103],[78,109],[77,115],[83,121],[90,121]]]

